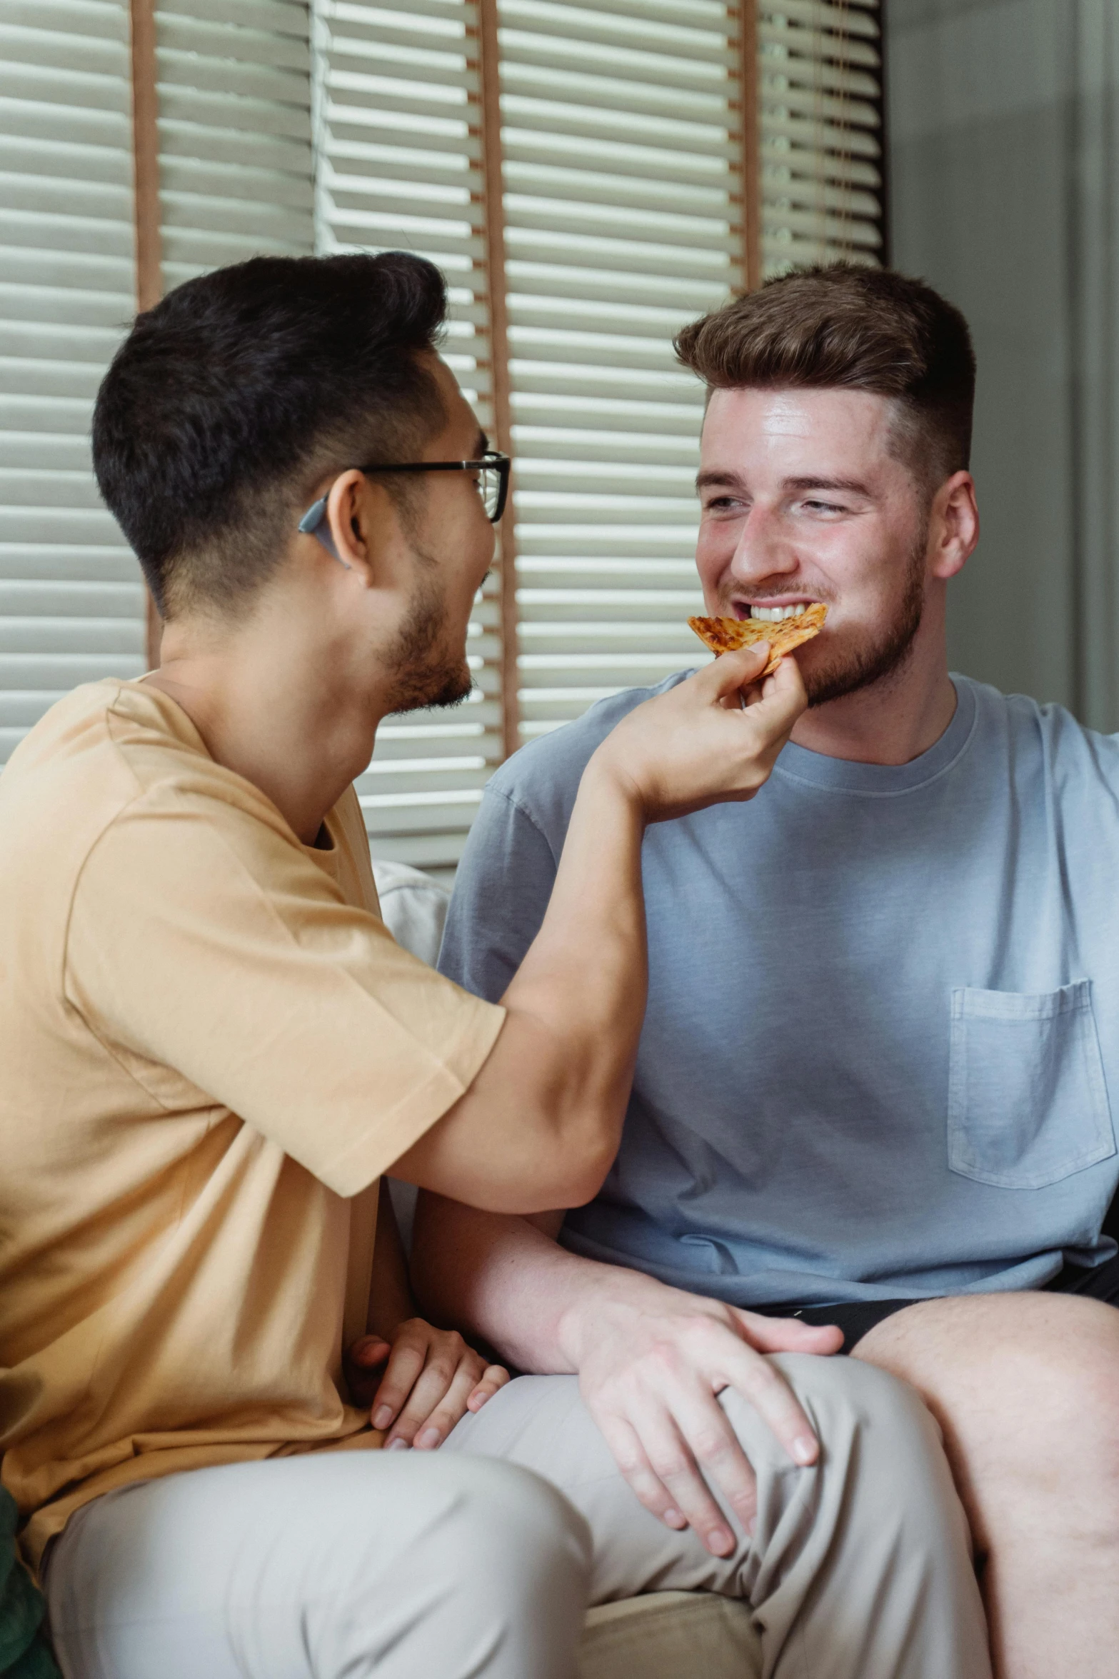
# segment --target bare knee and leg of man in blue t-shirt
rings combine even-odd
[[[1119,1311],[1035,1293],[919,1301],[856,1358],[911,1382],[941,1425],[998,1679],[1116,1679]]]

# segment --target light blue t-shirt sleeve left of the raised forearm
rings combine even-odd
[[[513,799],[488,787],[455,875],[440,972],[497,1002],[540,930],[557,856]]]

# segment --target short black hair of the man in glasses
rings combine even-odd
[[[97,393],[94,470],[164,616],[237,611],[327,472],[414,458],[446,423],[416,361],[445,316],[440,270],[388,252],[253,257],[136,317]]]

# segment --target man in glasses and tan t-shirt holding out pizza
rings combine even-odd
[[[609,1467],[589,1528],[424,1451],[507,1375],[416,1318],[379,1175],[507,1214],[594,1195],[644,829],[752,798],[804,705],[795,665],[758,688],[738,653],[636,710],[500,1002],[393,942],[352,782],[383,717],[468,693],[508,479],[445,306],[414,257],[258,259],[141,316],[97,398],[161,668],[79,688],[0,781],[0,1451],[60,1666],[572,1679],[589,1595],[690,1585],[748,1597],[778,1679],[815,1649],[837,1679],[981,1674],[934,1427],[805,1357],[827,1331],[777,1325],[790,1357],[728,1397],[762,1503],[720,1560]]]

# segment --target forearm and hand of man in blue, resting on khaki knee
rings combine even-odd
[[[767,1352],[832,1353],[834,1328],[763,1318],[668,1288],[559,1246],[562,1214],[478,1212],[421,1195],[413,1279],[435,1318],[487,1340],[520,1370],[577,1373],[582,1397],[641,1503],[669,1528],[693,1526],[726,1555],[718,1484],[748,1528],[753,1471],[716,1395],[733,1387],[794,1462],[814,1462],[812,1427]],[[706,1478],[706,1479],[705,1479]]]

